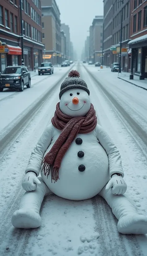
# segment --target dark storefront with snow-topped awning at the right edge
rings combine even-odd
[[[147,35],[131,40],[131,74],[139,76],[140,80],[147,78]]]

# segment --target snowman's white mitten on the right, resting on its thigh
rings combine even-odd
[[[114,174],[106,185],[106,192],[109,189],[111,189],[111,193],[114,195],[122,195],[127,190],[127,184],[121,175]]]

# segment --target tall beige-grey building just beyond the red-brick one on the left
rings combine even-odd
[[[41,7],[43,59],[54,65],[60,64],[62,61],[60,11],[55,0],[41,0]]]

